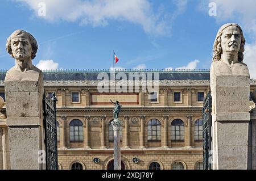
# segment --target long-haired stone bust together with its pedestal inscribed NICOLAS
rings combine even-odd
[[[250,73],[244,51],[242,28],[236,23],[221,26],[210,66],[212,169],[249,168]]]

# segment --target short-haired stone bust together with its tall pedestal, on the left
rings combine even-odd
[[[46,148],[43,73],[32,65],[38,44],[30,33],[16,30],[8,37],[6,50],[15,59],[15,65],[5,77],[10,167],[15,170],[46,169],[46,164],[38,161],[38,151]]]

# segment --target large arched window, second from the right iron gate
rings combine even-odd
[[[175,119],[171,123],[171,140],[176,142],[184,141],[184,123],[180,119]]]

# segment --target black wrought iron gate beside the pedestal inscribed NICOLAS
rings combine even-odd
[[[212,169],[212,96],[208,92],[203,106],[203,162],[204,170]]]

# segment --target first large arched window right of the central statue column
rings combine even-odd
[[[151,119],[147,123],[147,140],[160,141],[161,140],[161,123],[157,119]]]

